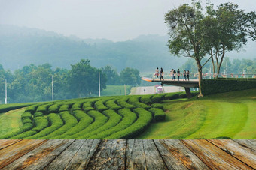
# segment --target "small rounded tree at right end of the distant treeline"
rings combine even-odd
[[[142,77],[139,76],[139,70],[126,67],[120,72],[120,79],[125,85],[140,85]]]

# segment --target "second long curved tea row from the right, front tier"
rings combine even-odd
[[[118,114],[123,117],[119,124],[94,136],[90,136],[88,139],[106,139],[111,134],[117,133],[118,131],[129,127],[134,123],[134,121],[136,121],[137,118],[137,115],[134,112],[131,112],[130,109],[120,109],[118,110]]]

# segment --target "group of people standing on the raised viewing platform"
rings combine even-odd
[[[153,79],[154,79],[155,77],[158,78],[158,76],[160,76],[160,80],[161,80],[161,79],[163,80],[163,74],[164,74],[164,73],[163,73],[163,68],[161,68],[161,70],[160,70],[160,72],[159,72],[158,67],[157,67],[156,73],[154,73]],[[189,70],[187,70],[187,71],[184,70],[184,72],[183,72],[183,81],[184,81],[184,80],[189,81],[189,75],[190,75]],[[175,69],[172,69],[172,70],[170,71],[170,76],[171,76],[172,80],[175,80],[175,79],[176,79],[176,76],[177,76],[178,81],[179,81],[179,78],[180,78],[180,76],[181,76],[181,72],[180,72],[179,69],[177,70],[177,72],[176,72]]]

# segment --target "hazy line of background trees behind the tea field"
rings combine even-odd
[[[141,80],[139,70],[130,67],[117,73],[110,66],[92,67],[90,60],[84,59],[71,67],[71,70],[53,70],[50,64],[30,64],[12,73],[0,64],[0,103],[5,101],[5,79],[8,82],[8,103],[52,100],[52,79],[54,100],[98,95],[99,73],[101,90],[106,85],[139,85]]]

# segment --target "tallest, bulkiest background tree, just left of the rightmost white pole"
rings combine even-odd
[[[73,97],[89,97],[90,93],[98,94],[99,91],[99,72],[100,72],[100,88],[106,88],[106,76],[101,70],[90,66],[90,60],[82,59],[79,63],[71,65],[72,70],[69,71],[69,85]]]

